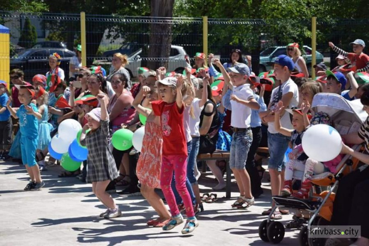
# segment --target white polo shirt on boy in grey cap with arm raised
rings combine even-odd
[[[254,93],[252,92],[249,84],[244,84],[233,88],[232,94],[246,101],[255,98]],[[231,100],[231,105],[232,105],[231,125],[237,128],[250,127],[251,122],[250,107],[242,103],[236,102],[234,100]]]

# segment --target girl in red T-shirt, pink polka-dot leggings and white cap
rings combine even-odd
[[[163,154],[160,174],[160,186],[170,207],[171,219],[163,226],[163,230],[171,230],[183,222],[171,188],[173,170],[176,177],[176,188],[180,193],[187,214],[183,234],[192,232],[198,225],[194,215],[191,198],[185,186],[187,147],[184,133],[184,103],[182,100],[182,76],[165,78],[156,82],[162,101],[152,102],[154,114],[160,116],[163,132]]]

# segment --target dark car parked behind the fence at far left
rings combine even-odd
[[[30,81],[36,74],[46,74],[50,70],[49,56],[58,53],[62,57],[60,67],[64,70],[65,79],[69,73],[69,61],[75,56],[73,51],[57,48],[27,49],[10,59],[10,70],[22,69],[25,80]]]

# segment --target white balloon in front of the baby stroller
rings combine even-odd
[[[305,154],[317,161],[330,161],[342,149],[342,139],[338,131],[326,124],[310,126],[303,135],[302,145]]]

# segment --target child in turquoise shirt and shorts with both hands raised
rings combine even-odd
[[[22,105],[19,110],[15,110],[10,106],[11,99],[8,99],[6,107],[14,118],[19,118],[19,127],[21,132],[21,152],[22,161],[26,166],[31,181],[24,190],[39,190],[45,183],[41,179],[40,170],[35,160],[36,148],[38,142],[38,122],[42,115],[38,113],[36,105],[31,103],[34,97],[34,88],[30,83],[24,86],[16,85],[19,90],[18,98]]]

